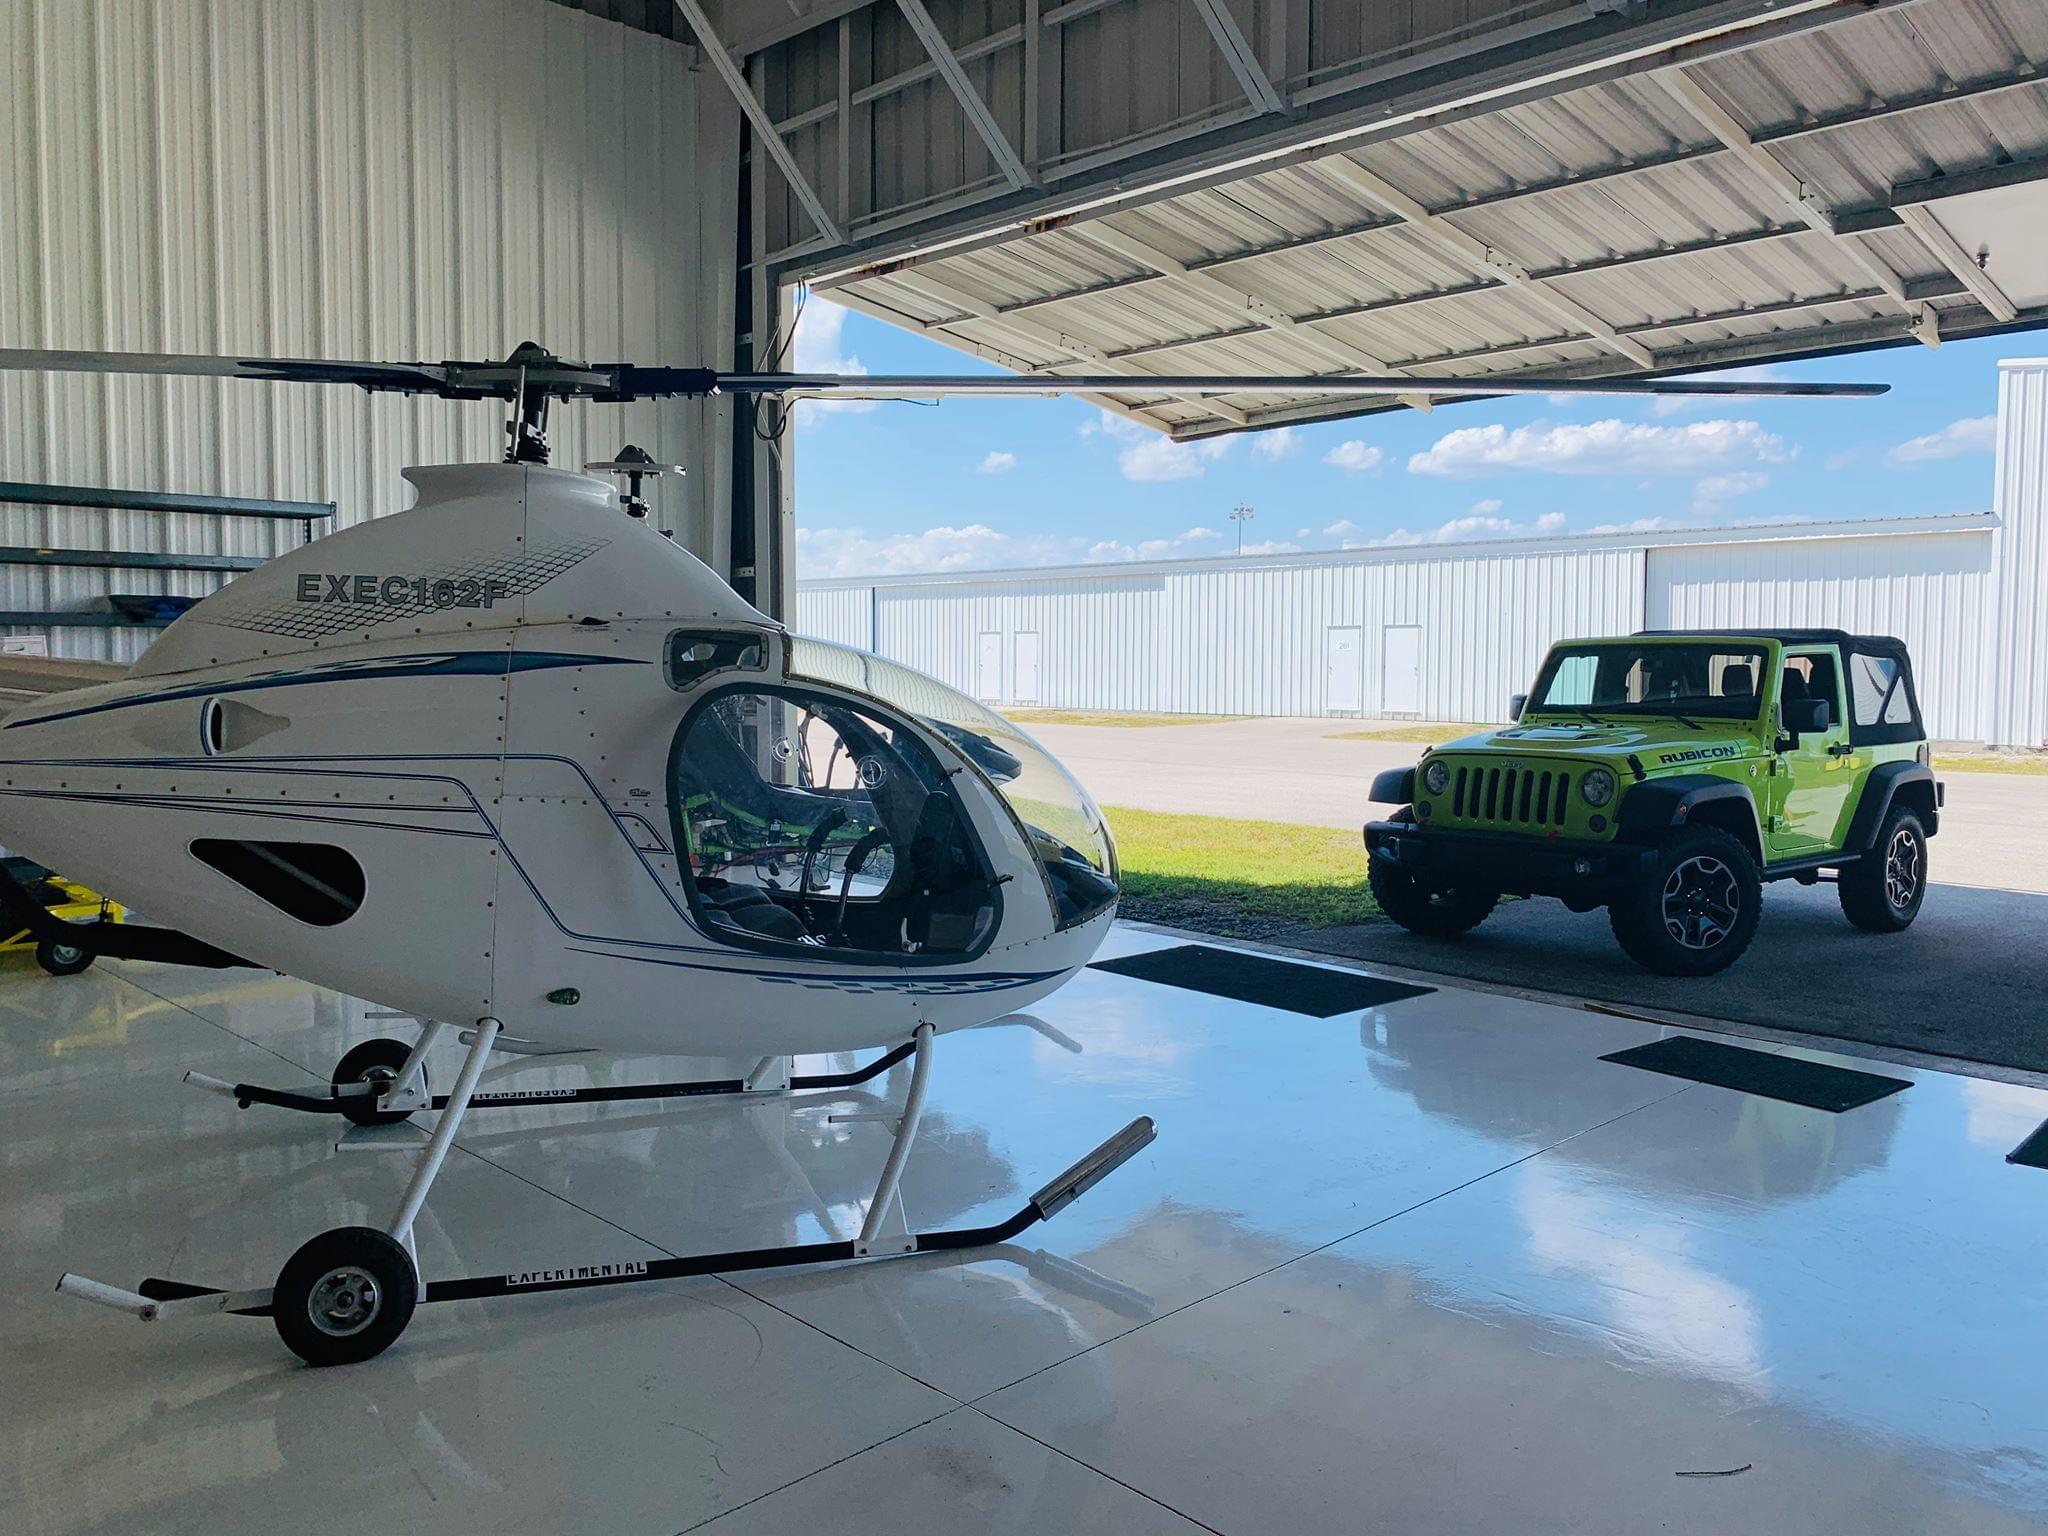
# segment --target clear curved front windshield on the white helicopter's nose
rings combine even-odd
[[[1053,754],[1001,715],[924,672],[801,635],[791,639],[788,670],[918,717],[975,764],[1024,827],[1061,928],[1116,901],[1116,846],[1102,811]]]

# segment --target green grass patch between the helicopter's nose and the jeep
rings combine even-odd
[[[1145,922],[1260,936],[1296,924],[1378,918],[1366,848],[1346,827],[1235,821],[1106,807],[1122,864],[1122,913]]]

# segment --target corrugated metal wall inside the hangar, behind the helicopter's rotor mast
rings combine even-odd
[[[4,346],[729,360],[737,129],[688,47],[543,0],[0,0],[0,51]],[[719,563],[725,410],[557,410],[555,463],[627,440],[688,463],[657,518]],[[494,459],[500,424],[340,387],[0,375],[0,479],[334,500],[348,524],[401,506],[406,465]],[[297,539],[0,508],[6,545]],[[0,567],[0,606],[215,582]],[[147,639],[53,635],[113,657]]]

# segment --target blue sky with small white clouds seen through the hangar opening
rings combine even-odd
[[[1991,506],[1997,360],[2028,336],[1790,362],[1880,399],[1532,397],[1174,444],[1073,399],[803,406],[797,573],[1341,549]],[[795,367],[975,358],[813,297]]]

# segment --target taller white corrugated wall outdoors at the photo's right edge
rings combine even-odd
[[[1985,627],[1991,737],[2048,745],[2048,360],[1999,365],[1999,575]]]

